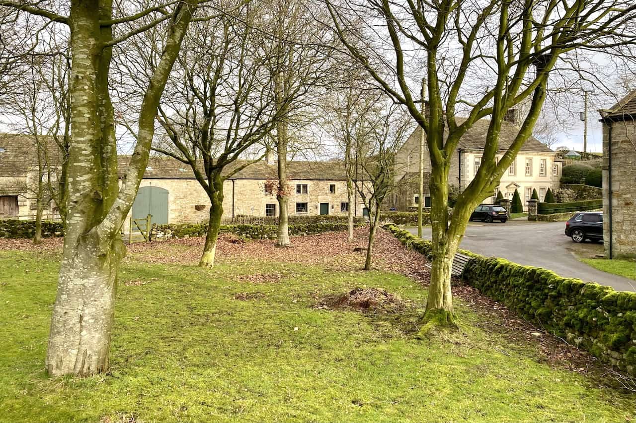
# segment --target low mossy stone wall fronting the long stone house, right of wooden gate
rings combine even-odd
[[[356,226],[363,225],[357,223]],[[305,236],[319,234],[328,231],[346,231],[345,223],[315,223],[289,225],[291,236]],[[277,225],[221,225],[221,233],[232,233],[248,239],[275,239],[278,234]],[[207,233],[207,224],[169,224],[159,225],[155,232],[163,232],[167,238],[184,238],[186,236],[204,236]]]

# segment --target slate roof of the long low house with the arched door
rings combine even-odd
[[[120,176],[124,175],[128,160],[128,156],[120,156],[118,163]],[[224,174],[228,175],[237,166],[243,164],[245,164],[245,160],[237,160],[228,164]],[[258,161],[238,171],[230,179],[275,179],[277,173],[277,165]],[[347,180],[343,163],[336,161],[289,161],[287,162],[287,176],[292,180]],[[189,164],[165,156],[152,156],[148,159],[144,178],[192,179],[194,175]]]

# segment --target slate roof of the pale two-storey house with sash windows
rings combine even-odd
[[[457,124],[462,124],[466,121],[465,117],[456,117]],[[486,145],[486,135],[488,133],[489,119],[480,119],[476,121],[473,126],[464,134],[459,140],[457,148],[459,149],[471,149],[471,150],[483,150]],[[515,141],[516,135],[519,133],[519,126],[509,122],[502,122],[501,133],[499,135],[499,151],[506,151],[508,147]],[[415,131],[420,131],[420,127],[415,128]],[[522,152],[553,152],[543,142],[537,140],[537,138],[530,136],[523,147]]]

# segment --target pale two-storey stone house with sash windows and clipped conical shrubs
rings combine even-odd
[[[509,119],[502,123],[499,145],[501,156],[515,139],[519,127],[513,118],[515,114],[509,114]],[[460,123],[460,118],[457,118]],[[481,119],[473,128],[469,129],[462,137],[455,151],[455,158],[448,174],[448,184],[464,190],[473,180],[481,164],[481,156],[486,144],[486,133],[489,121]],[[407,210],[416,207],[418,199],[418,169],[419,169],[419,143],[421,129],[419,126],[413,131],[404,145],[397,152],[396,178],[398,182],[397,192],[390,199],[390,207],[394,210]],[[425,145],[424,154],[428,147]],[[532,190],[536,189],[540,201],[543,201],[548,188],[555,190],[559,186],[562,175],[563,161],[556,156],[545,144],[534,137],[530,137],[508,171],[501,177],[501,184],[495,189],[492,198],[484,200],[492,203],[501,191],[504,198],[513,198],[515,189],[518,189],[524,207],[532,196]],[[424,160],[424,206],[431,205],[429,180],[431,175],[431,159]]]

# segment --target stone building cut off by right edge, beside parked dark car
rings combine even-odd
[[[635,256],[636,90],[600,115],[605,256]]]

